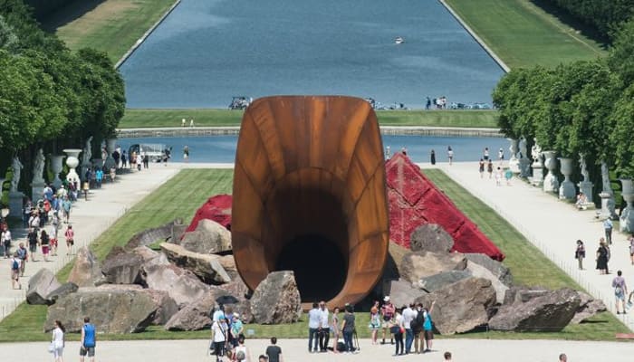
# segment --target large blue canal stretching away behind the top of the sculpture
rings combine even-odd
[[[504,73],[437,0],[182,0],[120,71],[129,108],[276,94],[490,103]]]

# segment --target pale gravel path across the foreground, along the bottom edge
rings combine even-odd
[[[98,337],[99,338],[99,337]],[[372,346],[370,340],[360,340],[357,354],[334,355],[329,353],[309,354],[305,339],[285,339],[277,343],[282,348],[285,362],[384,362],[384,361],[428,361],[442,362],[443,354],[450,351],[457,362],[555,362],[560,353],[565,353],[571,362],[631,361],[634,344],[620,342],[566,341],[566,340],[490,340],[490,339],[437,339],[434,350],[425,355],[392,357],[393,346]],[[46,352],[48,343],[5,343],[4,356],[19,356],[17,360],[50,362]],[[262,354],[268,340],[248,339],[246,347],[252,359]],[[69,342],[64,348],[64,360],[79,358],[79,343]],[[210,362],[207,340],[163,340],[163,341],[107,341],[98,342],[95,354],[98,361],[191,361]],[[9,357],[10,358],[10,357]],[[226,359],[225,359],[226,361]]]

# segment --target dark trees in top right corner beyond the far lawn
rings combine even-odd
[[[596,29],[606,39],[612,29],[628,21],[634,14],[632,0],[548,0],[582,23]]]

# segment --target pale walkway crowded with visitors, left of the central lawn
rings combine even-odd
[[[75,231],[75,251],[83,245],[91,243],[120,216],[125,214],[132,205],[138,203],[170,177],[176,175],[182,167],[186,167],[186,165],[170,164],[168,167],[150,165],[147,170],[133,171],[117,176],[114,183],[105,183],[101,188],[91,190],[88,201],[81,198],[73,203],[70,222]],[[66,224],[62,224],[62,229],[58,233],[60,245],[58,256],[51,256],[49,262],[43,262],[42,251],[38,250],[35,254],[37,262],[26,263],[24,277],[20,279],[22,290],[12,290],[8,259],[0,259],[3,265],[0,268],[0,320],[4,319],[24,300],[30,276],[42,268],[48,268],[54,272],[59,271],[72,260],[73,255],[67,255],[68,251],[63,237],[65,228]],[[48,225],[46,230],[48,231]],[[13,228],[11,233],[14,238],[12,250],[21,242],[28,245],[25,240],[26,230]]]

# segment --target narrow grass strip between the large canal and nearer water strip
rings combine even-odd
[[[240,126],[242,110],[126,110],[121,129],[180,127],[181,119],[194,119],[196,126]],[[379,110],[383,126],[438,126],[497,128],[495,110]]]

